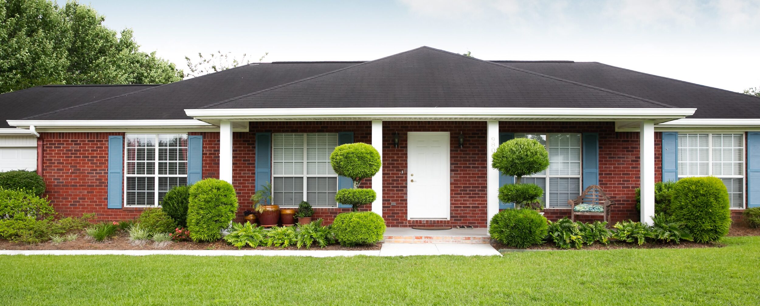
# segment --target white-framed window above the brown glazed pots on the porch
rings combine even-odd
[[[330,154],[337,133],[272,134],[272,197],[280,207],[337,207],[337,174]]]

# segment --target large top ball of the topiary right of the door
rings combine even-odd
[[[515,138],[505,141],[496,148],[492,158],[493,169],[498,169],[503,175],[518,178],[542,172],[549,167],[549,152],[535,139]]]

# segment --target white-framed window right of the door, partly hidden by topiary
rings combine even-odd
[[[515,138],[538,140],[549,151],[549,169],[525,176],[522,182],[543,189],[546,208],[569,208],[568,200],[581,194],[581,134],[515,133]]]

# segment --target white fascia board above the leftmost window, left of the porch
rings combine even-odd
[[[18,128],[35,126],[50,128],[214,128],[210,123],[195,120],[8,120],[8,125]],[[27,134],[29,131],[27,131]]]

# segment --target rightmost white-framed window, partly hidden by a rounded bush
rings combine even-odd
[[[744,134],[678,134],[678,178],[708,175],[726,185],[731,208],[744,208]]]

